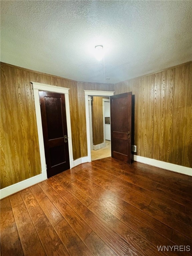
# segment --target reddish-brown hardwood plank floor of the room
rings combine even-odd
[[[111,157],[76,166],[1,200],[1,255],[192,255],[192,177]]]

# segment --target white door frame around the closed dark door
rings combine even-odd
[[[57,92],[65,94],[65,106],[66,106],[66,117],[67,117],[67,134],[68,134],[68,144],[69,144],[69,160],[70,160],[70,168],[74,166],[73,162],[73,147],[72,147],[72,135],[71,135],[71,120],[70,120],[70,109],[69,109],[69,88],[41,84],[36,82],[31,82],[33,84],[33,92],[34,92],[34,100],[35,100],[35,112],[37,119],[37,131],[39,138],[39,150],[40,150],[40,158],[41,158],[41,172],[43,175],[43,179],[47,179],[47,171],[46,171],[46,162],[45,162],[45,149],[43,142],[43,129],[41,122],[41,109],[39,104],[39,91],[47,91],[47,92]]]

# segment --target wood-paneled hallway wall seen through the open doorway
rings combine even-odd
[[[93,145],[98,145],[104,142],[103,98],[101,96],[94,96],[92,103]]]

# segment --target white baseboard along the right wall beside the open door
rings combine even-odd
[[[155,167],[163,168],[169,171],[173,172],[178,172],[182,174],[187,174],[192,176],[192,168],[190,167],[185,167],[177,164],[171,164],[163,161],[159,161],[156,159],[151,159],[143,156],[137,156],[137,155],[132,155],[132,159],[136,162],[144,163],[144,164],[149,164]]]

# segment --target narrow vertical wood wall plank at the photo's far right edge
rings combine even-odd
[[[186,93],[186,91],[185,91]],[[192,63],[189,64],[189,78],[187,90],[187,111],[185,124],[184,163],[192,168]]]

